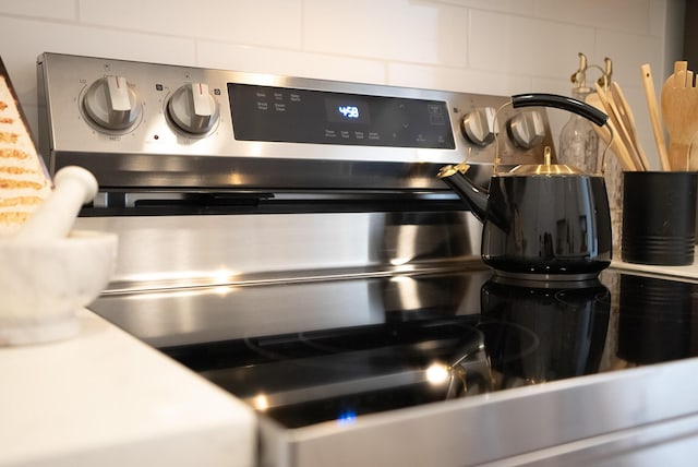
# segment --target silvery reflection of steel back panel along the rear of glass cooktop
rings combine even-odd
[[[454,271],[464,270],[469,274],[445,278],[424,271],[374,272],[134,291],[106,295],[91,309],[158,348],[302,334],[417,319],[424,309],[438,308],[453,315],[477,313],[480,288],[492,273],[482,263]]]

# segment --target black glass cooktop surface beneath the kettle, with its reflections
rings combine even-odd
[[[108,296],[98,314],[288,428],[698,355],[698,285],[489,271]]]

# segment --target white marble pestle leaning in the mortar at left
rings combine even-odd
[[[16,231],[15,240],[41,242],[67,237],[83,204],[97,194],[97,179],[88,170],[63,167],[53,177],[53,190]]]

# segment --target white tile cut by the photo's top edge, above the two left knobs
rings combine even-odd
[[[300,5],[301,0],[80,0],[80,17],[111,28],[297,49]]]

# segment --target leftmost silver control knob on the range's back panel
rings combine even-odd
[[[87,117],[107,130],[125,130],[134,125],[141,115],[135,91],[123,76],[104,76],[89,85],[83,98]]]

